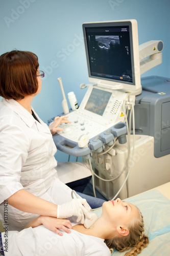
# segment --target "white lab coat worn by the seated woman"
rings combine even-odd
[[[36,113],[35,115],[37,116]],[[2,222],[4,222],[4,200],[22,188],[56,204],[71,199],[70,197],[62,199],[61,190],[68,190],[70,195],[70,189],[55,177],[57,162],[54,155],[57,149],[50,129],[38,116],[37,118],[40,123],[13,99],[0,101],[0,219]],[[8,205],[8,230],[21,230],[36,216]]]

